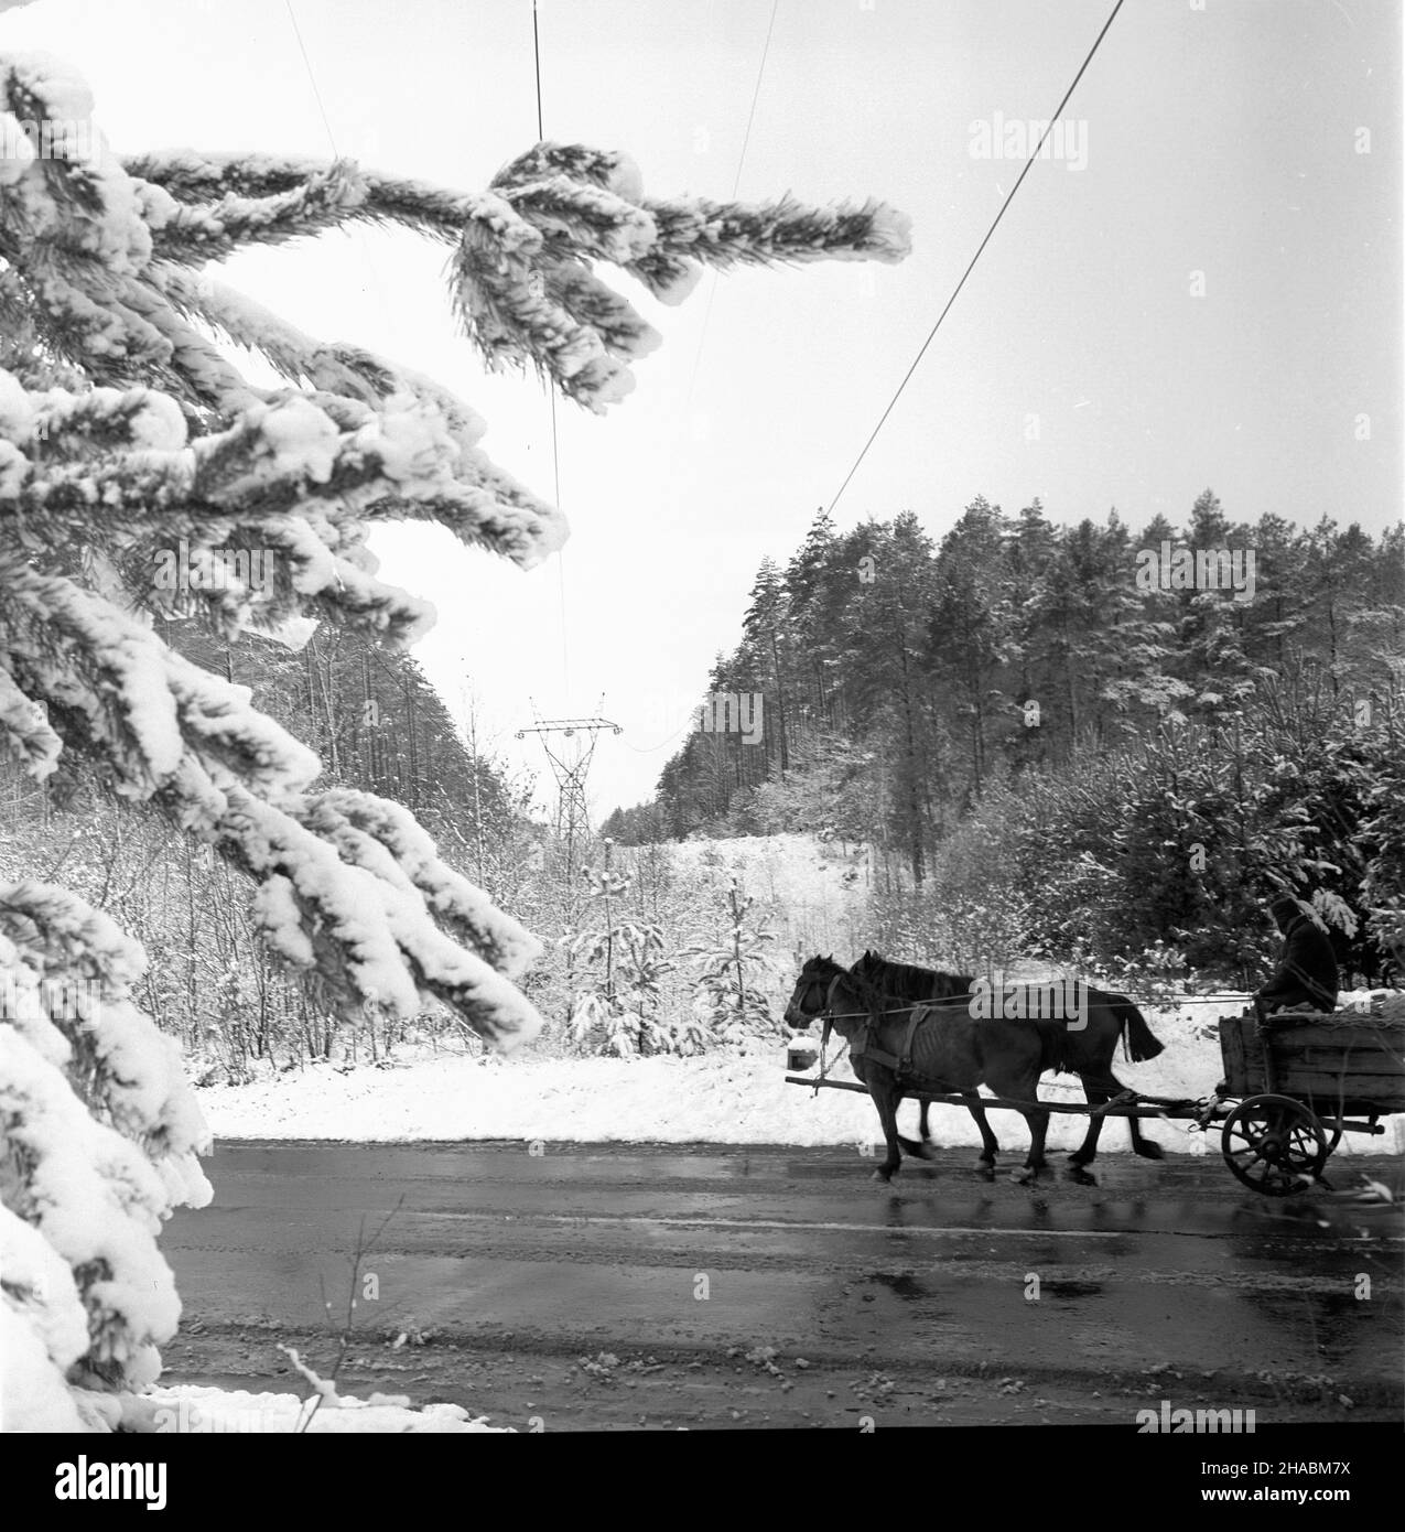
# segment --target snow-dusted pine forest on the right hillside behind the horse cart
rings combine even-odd
[[[1253,585],[1138,579],[1141,550],[1250,553]],[[696,729],[607,833],[876,846],[878,919],[913,958],[1151,951],[1244,982],[1292,892],[1348,971],[1402,971],[1399,524],[1235,522],[1210,490],[1135,532],[1037,499],[978,498],[939,542],[910,513],[841,533],[821,512],[761,564],[709,676],[726,694],[761,728]]]

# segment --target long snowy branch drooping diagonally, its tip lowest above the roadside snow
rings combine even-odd
[[[259,925],[283,959],[311,953],[342,1010],[412,1016],[427,994],[499,1046],[539,1030],[503,977],[535,961],[535,939],[444,867],[404,810],[354,792],[306,795],[320,763],[250,708],[248,688],[57,576],[15,582],[0,643],[69,743],[116,772],[118,792],[155,800],[257,882],[283,879],[256,901]]]

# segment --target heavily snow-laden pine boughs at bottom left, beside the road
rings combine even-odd
[[[156,1235],[202,1207],[210,1135],[181,1049],[130,999],[146,958],[101,912],[0,885],[3,1429],[78,1429],[92,1386],[152,1382],[179,1299]]]

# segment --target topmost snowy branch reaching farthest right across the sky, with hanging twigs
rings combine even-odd
[[[627,362],[653,351],[659,336],[591,273],[593,262],[622,267],[677,303],[703,265],[901,260],[909,250],[907,219],[881,202],[654,201],[633,161],[582,144],[536,144],[486,193],[377,176],[345,161],[182,150],[126,165],[181,201],[181,211],[153,230],[165,262],[348,222],[401,225],[452,244],[454,305],[489,365],[530,362],[598,412],[633,388]],[[257,329],[236,339],[256,345]]]

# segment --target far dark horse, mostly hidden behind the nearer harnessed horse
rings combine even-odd
[[[919,968],[907,962],[889,962],[873,951],[866,951],[852,971],[860,979],[867,980],[887,994],[899,996],[902,1000],[947,999],[956,994],[970,997],[974,987],[974,979],[962,974],[942,973],[938,968]],[[1027,994],[1033,994],[1039,988],[1039,985],[1025,987]],[[1089,985],[1086,999],[1086,1025],[1082,1028],[1068,1028],[1063,1020],[1034,1022],[1033,1025],[1051,1025],[1065,1031],[1066,1043],[1063,1057],[1066,1062],[1062,1068],[1082,1080],[1088,1105],[1100,1106],[1103,1102],[1111,1102],[1114,1095],[1122,1094],[1125,1089],[1122,1082],[1112,1074],[1112,1057],[1117,1052],[1118,1039],[1122,1039],[1123,1048],[1132,1063],[1155,1059],[1163,1045],[1152,1034],[1137,1007],[1125,994],[1109,994],[1105,990],[1094,990]],[[1033,1008],[1030,1007],[1030,1010]],[[1025,1022],[1022,1025],[1028,1026],[1031,1023]],[[981,1164],[994,1167],[996,1154],[1001,1146],[996,1143],[996,1137],[985,1120],[984,1108],[971,1106],[970,1111],[971,1117],[976,1118],[976,1126],[981,1129],[981,1143],[984,1146]],[[1141,1134],[1137,1118],[1129,1117],[1126,1123],[1132,1135],[1132,1149],[1148,1160],[1160,1160],[1161,1146]],[[1091,1177],[1086,1175],[1086,1166],[1092,1163],[1097,1154],[1097,1140],[1102,1131],[1103,1118],[1089,1117],[1083,1143],[1069,1155],[1069,1167],[1074,1180],[1091,1181]],[[921,1134],[925,1144],[928,1138],[925,1102],[922,1102]]]

